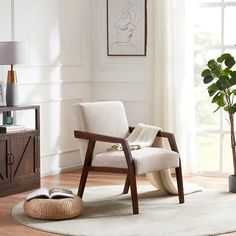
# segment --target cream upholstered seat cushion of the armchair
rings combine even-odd
[[[136,174],[179,167],[179,154],[167,149],[146,147],[131,151]],[[92,166],[127,168],[123,151],[110,151],[93,157]]]

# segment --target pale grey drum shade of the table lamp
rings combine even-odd
[[[27,45],[25,42],[0,42],[0,65],[27,63]]]

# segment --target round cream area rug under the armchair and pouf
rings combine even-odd
[[[153,186],[138,186],[139,211],[132,214],[130,194],[123,186],[85,188],[83,215],[61,221],[27,217],[22,202],[12,209],[13,218],[26,226],[62,235],[77,236],[196,236],[236,231],[236,194],[205,191],[178,196],[164,195]]]

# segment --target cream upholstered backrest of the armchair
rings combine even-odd
[[[79,130],[125,138],[129,126],[123,103],[120,101],[88,102],[77,105]],[[87,142],[81,141],[80,155],[85,158]],[[94,154],[105,152],[111,143],[96,142]]]

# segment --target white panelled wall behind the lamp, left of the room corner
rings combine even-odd
[[[29,43],[30,63],[15,68],[21,103],[41,107],[43,174],[80,163],[72,120],[73,104],[91,98],[89,8],[86,0],[0,1],[0,40]]]

